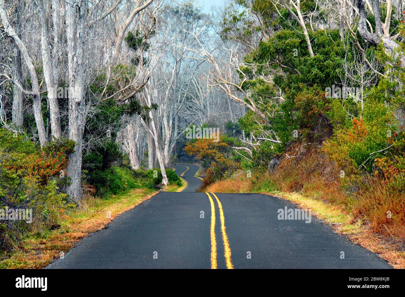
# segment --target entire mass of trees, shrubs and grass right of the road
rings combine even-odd
[[[403,255],[403,47],[388,53],[383,43],[363,39],[361,28],[352,34],[343,23],[343,34],[339,28],[312,26],[330,22],[327,9],[319,9],[318,21],[293,17],[297,10],[311,15],[313,1],[292,9],[265,1],[237,4],[243,13],[228,7],[221,36],[241,47],[255,44],[237,66],[237,88],[250,110],[234,123],[243,131],[236,137],[224,127],[218,142],[212,136],[185,146],[206,168],[203,190],[283,193],[316,206],[314,212],[343,224],[347,233],[368,228],[371,237],[395,243]],[[384,7],[381,12],[386,19]],[[249,22],[249,15],[262,22]],[[371,19],[378,31],[381,20]],[[269,34],[257,43],[254,24]],[[392,14],[391,24],[389,34],[404,36],[403,20]]]

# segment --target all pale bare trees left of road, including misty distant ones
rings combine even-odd
[[[2,125],[41,146],[75,141],[66,169],[75,201],[82,177],[117,150],[134,169],[160,167],[167,184],[165,168],[188,126],[243,114],[194,59],[189,31],[202,30],[205,43],[212,21],[192,5],[2,0],[0,18]]]

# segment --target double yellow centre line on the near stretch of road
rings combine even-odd
[[[217,269],[217,240],[215,237],[215,205],[211,195],[208,192],[205,192],[205,194],[207,194],[209,202],[211,203],[211,269]],[[215,197],[218,203],[218,208],[220,209],[221,232],[222,232],[222,241],[224,241],[224,256],[226,261],[226,268],[233,269],[228,235],[226,235],[225,217],[224,217],[224,210],[222,209],[222,203],[220,199],[218,199],[217,195],[215,195],[212,192],[211,194]]]

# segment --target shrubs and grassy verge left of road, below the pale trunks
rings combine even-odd
[[[160,170],[133,170],[118,152],[113,153],[114,162],[104,162],[112,154],[104,151],[101,158],[93,154],[91,161],[87,156],[93,169],[84,171],[83,199],[75,203],[65,193],[70,182],[66,166],[71,141],[54,141],[38,148],[24,135],[2,128],[0,143],[0,208],[32,211],[32,222],[0,221],[1,268],[44,267],[81,238],[104,228],[162,188]],[[98,167],[95,159],[100,160]],[[173,170],[166,169],[166,174],[170,182],[167,190],[183,187]]]

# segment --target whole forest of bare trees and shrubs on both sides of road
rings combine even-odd
[[[177,162],[201,190],[299,193],[403,247],[402,2],[0,0],[0,207],[33,218],[0,221],[0,256],[181,188]]]

